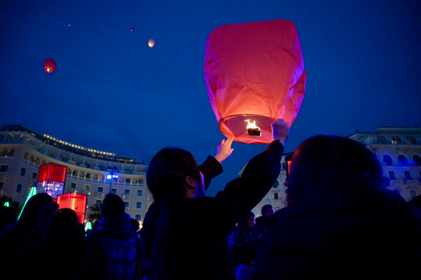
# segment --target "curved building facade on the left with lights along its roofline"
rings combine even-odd
[[[142,222],[152,195],[146,185],[147,166],[133,158],[67,143],[46,134],[36,134],[21,125],[4,125],[0,130],[0,195],[23,204],[36,186],[41,165],[67,167],[64,193],[87,195],[89,207],[116,193],[126,204],[126,212]],[[107,174],[118,174],[110,181]]]

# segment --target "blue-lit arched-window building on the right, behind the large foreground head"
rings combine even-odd
[[[399,193],[406,201],[421,195],[421,128],[420,127],[378,127],[373,132],[359,132],[349,135],[372,151],[382,165],[383,176],[389,179],[389,190]],[[292,153],[282,156],[278,180],[263,200],[252,210],[256,217],[260,209],[272,204],[274,211],[286,207],[287,161]]]

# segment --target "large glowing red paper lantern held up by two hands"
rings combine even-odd
[[[294,22],[218,27],[206,41],[203,72],[220,131],[234,141],[267,144],[273,120],[290,126],[300,111],[307,74]]]

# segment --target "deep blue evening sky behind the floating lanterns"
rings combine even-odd
[[[0,0],[0,9],[0,125],[146,164],[177,146],[201,163],[224,137],[203,78],[209,32],[276,19],[295,22],[307,71],[286,152],[316,134],[421,125],[418,0]],[[265,145],[233,148],[208,195]]]

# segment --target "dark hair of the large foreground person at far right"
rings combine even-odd
[[[375,155],[363,144],[345,137],[311,137],[293,154],[288,179],[288,202],[312,188],[334,192],[340,188],[387,185]]]

